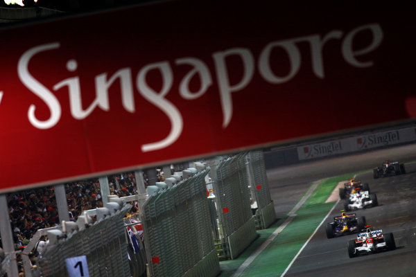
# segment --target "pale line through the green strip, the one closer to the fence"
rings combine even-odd
[[[257,256],[259,256],[259,254],[261,253],[261,251],[263,251],[264,249],[266,249],[266,247],[268,247],[268,244],[270,244],[270,242],[272,242],[277,235],[279,235],[279,233],[281,233],[281,231],[283,231],[283,229],[286,228],[286,226],[288,226],[289,223],[292,222],[292,220],[296,217],[296,212],[297,210],[299,210],[299,208],[304,204],[304,202],[306,202],[306,200],[312,195],[313,190],[315,190],[315,188],[320,184],[320,181],[315,181],[313,182],[312,186],[309,188],[309,190],[306,192],[306,194],[302,197],[302,199],[300,199],[300,202],[298,202],[296,204],[296,206],[293,207],[292,211],[290,211],[288,213],[289,217],[287,218],[287,220],[281,224],[269,237],[268,239],[263,242],[263,244],[260,245],[259,248],[256,249],[256,251],[254,251],[244,262],[243,264],[241,264],[239,266],[239,268],[234,272],[234,274],[232,274],[231,277],[237,277],[240,276],[243,271],[252,263],[252,261],[257,258]],[[338,202],[337,202],[338,203]]]

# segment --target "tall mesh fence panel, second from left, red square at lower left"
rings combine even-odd
[[[143,207],[146,255],[151,276],[216,276],[219,261],[209,220],[203,170],[150,196]]]

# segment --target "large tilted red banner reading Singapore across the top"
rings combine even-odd
[[[193,5],[1,30],[0,189],[416,116],[406,7]]]

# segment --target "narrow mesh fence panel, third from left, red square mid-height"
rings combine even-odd
[[[218,213],[221,258],[233,259],[257,238],[250,204],[248,152],[209,161],[215,168],[214,194]]]

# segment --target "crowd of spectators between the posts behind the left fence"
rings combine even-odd
[[[147,186],[146,175],[144,179]],[[109,176],[108,181],[111,195],[124,197],[137,194],[133,172]],[[64,186],[71,220],[76,221],[83,211],[103,206],[98,179],[74,181]],[[9,193],[7,200],[15,250],[24,249],[38,229],[58,226],[60,223],[54,186]]]

